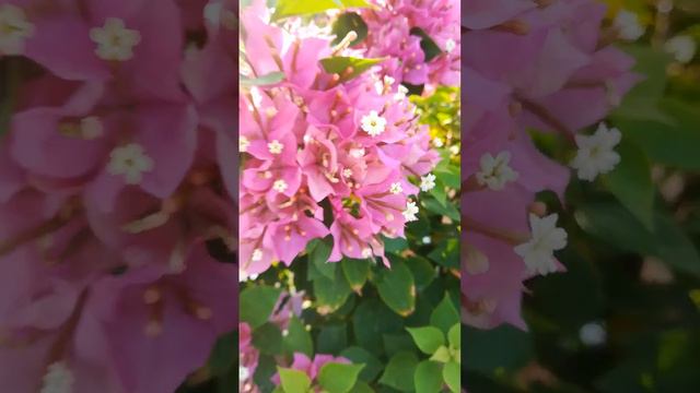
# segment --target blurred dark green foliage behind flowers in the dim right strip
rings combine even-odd
[[[465,327],[471,393],[700,392],[700,1],[606,2],[645,75],[607,120],[621,164],[573,179],[563,206],[540,195],[569,233],[568,272],[526,283],[528,332]]]

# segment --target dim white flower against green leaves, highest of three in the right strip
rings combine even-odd
[[[608,129],[600,123],[593,135],[575,135],[579,151],[571,167],[579,170],[579,178],[593,181],[599,174],[607,174],[620,162],[615,146],[622,134],[618,129]]]

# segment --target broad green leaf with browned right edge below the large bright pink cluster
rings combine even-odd
[[[396,313],[408,317],[416,310],[413,274],[402,262],[394,262],[376,282],[380,297]]]

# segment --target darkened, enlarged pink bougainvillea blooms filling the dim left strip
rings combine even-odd
[[[3,391],[173,392],[235,329],[236,13],[0,3]]]

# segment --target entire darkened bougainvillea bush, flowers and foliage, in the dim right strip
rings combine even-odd
[[[700,388],[699,11],[464,2],[469,392]]]

